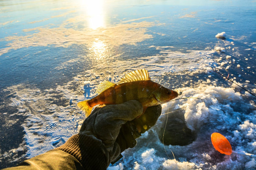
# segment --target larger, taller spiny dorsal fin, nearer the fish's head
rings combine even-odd
[[[131,81],[139,81],[139,80],[150,80],[148,70],[134,70],[124,76],[118,83],[127,83]]]

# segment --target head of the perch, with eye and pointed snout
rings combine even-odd
[[[154,98],[159,103],[166,103],[178,97],[178,93],[176,91],[167,89],[163,86],[160,86],[158,89],[156,89],[153,92],[153,95],[154,95]]]

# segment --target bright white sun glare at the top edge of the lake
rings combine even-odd
[[[104,0],[80,0],[87,17],[88,25],[92,29],[105,26]]]

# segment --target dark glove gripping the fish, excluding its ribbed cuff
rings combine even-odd
[[[155,125],[161,114],[161,105],[147,108],[144,114],[142,112],[142,104],[135,100],[95,108],[85,119],[80,133],[101,140],[108,152],[108,160],[112,162],[125,149],[134,147],[135,139]]]

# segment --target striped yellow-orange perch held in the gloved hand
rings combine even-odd
[[[97,104],[120,104],[137,100],[142,103],[144,113],[147,107],[169,102],[180,95],[174,90],[151,81],[145,69],[126,74],[118,84],[103,81],[95,93],[99,95],[77,104],[85,112],[86,117],[91,114],[92,108]]]

